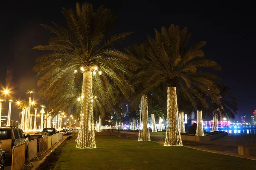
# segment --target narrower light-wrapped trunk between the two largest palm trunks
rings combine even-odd
[[[140,100],[140,128],[138,141],[150,141],[148,125],[148,96],[143,94]]]

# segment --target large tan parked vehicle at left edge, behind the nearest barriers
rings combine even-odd
[[[12,147],[25,143],[28,148],[30,135],[25,135],[22,129],[13,126],[0,127],[1,148],[5,151],[6,157],[12,157]]]

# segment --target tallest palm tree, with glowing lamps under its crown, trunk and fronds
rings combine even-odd
[[[53,27],[43,25],[55,37],[49,40],[48,45],[33,48],[52,51],[39,57],[34,67],[34,71],[42,75],[38,81],[38,93],[56,106],[53,108],[55,111],[59,111],[60,107],[69,110],[74,103],[81,103],[76,147],[95,148],[94,131],[90,128],[93,126],[93,97],[97,96],[100,100],[99,108],[104,114],[104,107],[110,109],[116,105],[116,89],[127,98],[133,90],[126,76],[136,65],[129,61],[125,53],[113,48],[114,43],[124,40],[131,33],[106,38],[114,17],[103,6],[94,11],[91,4],[76,3],[76,11],[63,8],[62,13],[68,28],[57,23],[52,23]],[[93,76],[96,74],[99,76]],[[77,102],[78,96],[81,96],[81,102]]]

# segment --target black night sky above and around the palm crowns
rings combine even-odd
[[[39,3],[40,2],[40,3]],[[61,7],[75,8],[77,1],[64,3],[59,0],[34,1],[34,3],[2,3],[0,11],[0,84],[5,86],[6,67],[12,66],[17,75],[15,98],[24,99],[29,86],[36,87],[37,78],[32,72],[35,59],[41,51],[32,51],[38,44],[45,44],[50,37],[47,30],[39,24],[50,21],[64,23]],[[84,1],[80,1],[84,2]],[[253,1],[203,1],[203,3],[144,0],[106,0],[86,1],[95,8],[104,4],[118,17],[113,33],[134,32],[118,48],[146,40],[146,34],[154,36],[154,28],[169,27],[171,23],[181,28],[188,27],[192,34],[191,42],[206,40],[204,48],[207,58],[213,59],[223,67],[214,72],[230,86],[238,99],[239,114],[253,114],[256,109],[255,90],[255,17]],[[254,40],[254,41],[253,41]],[[35,96],[36,97],[36,96]],[[3,106],[7,114],[7,102]],[[16,111],[17,112],[17,111]],[[12,112],[12,119],[17,113]],[[250,117],[249,117],[250,119]],[[250,120],[247,121],[250,122]]]

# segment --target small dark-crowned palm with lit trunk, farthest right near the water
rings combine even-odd
[[[213,125],[212,131],[218,131],[218,120],[220,117],[228,117],[231,119],[235,118],[235,114],[238,111],[237,99],[233,96],[233,93],[230,92],[231,88],[228,88],[226,85],[219,85],[220,95],[219,100],[220,103],[216,104],[211,102],[211,106],[213,110]]]

